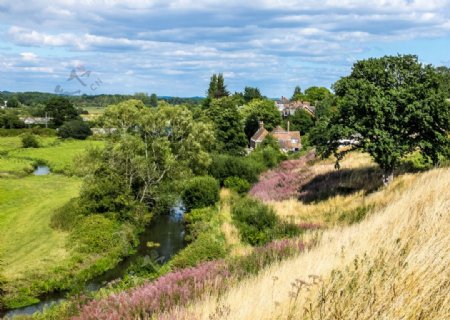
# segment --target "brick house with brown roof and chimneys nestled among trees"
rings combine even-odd
[[[264,123],[261,121],[259,123],[258,131],[256,131],[250,139],[250,148],[255,149],[258,147],[268,135],[271,135],[278,141],[280,149],[284,152],[299,151],[302,147],[300,131],[289,131],[289,123],[287,130],[278,126],[269,133],[269,131],[264,128]]]

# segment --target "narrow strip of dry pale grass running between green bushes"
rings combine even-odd
[[[251,251],[251,246],[241,242],[239,238],[239,231],[232,222],[230,210],[231,192],[229,189],[222,189],[220,191],[220,210],[222,223],[222,232],[225,236],[226,243],[231,248],[231,255],[244,255]]]

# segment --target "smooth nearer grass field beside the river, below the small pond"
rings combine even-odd
[[[66,257],[66,233],[49,222],[54,209],[78,195],[80,185],[80,179],[61,175],[0,179],[0,252],[8,281]]]

